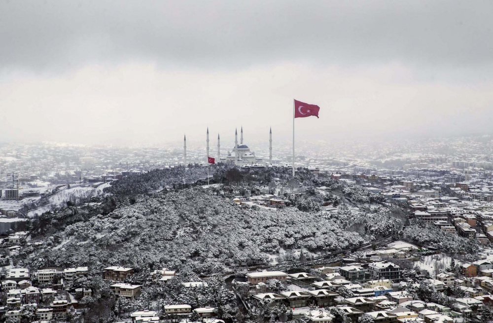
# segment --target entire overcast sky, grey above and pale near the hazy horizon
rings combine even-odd
[[[2,141],[491,133],[493,1],[0,0]],[[225,145],[227,145],[225,143]]]

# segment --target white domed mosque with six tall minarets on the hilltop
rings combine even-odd
[[[213,157],[209,153],[209,128],[207,128],[207,157]],[[183,140],[183,157],[186,165],[186,137]],[[216,163],[234,164],[237,166],[245,165],[266,165],[267,163],[257,156],[254,151],[250,151],[250,147],[243,142],[243,127],[240,132],[240,144],[238,144],[238,130],[235,130],[235,145],[231,151],[228,151],[226,157],[221,157],[221,144],[219,134],[217,134],[217,155],[215,156]],[[272,128],[269,131],[269,164],[272,165]]]

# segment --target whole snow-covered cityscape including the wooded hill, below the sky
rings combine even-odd
[[[242,129],[239,166],[219,144],[208,164],[206,143],[3,144],[2,317],[493,317],[490,136],[306,146],[294,179],[288,145],[247,146]],[[247,160],[250,149],[257,157]]]

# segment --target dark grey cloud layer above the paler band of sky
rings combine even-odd
[[[3,1],[0,69],[492,64],[492,1]]]

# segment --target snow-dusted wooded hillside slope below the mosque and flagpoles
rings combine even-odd
[[[64,231],[69,241],[42,251],[33,266],[124,265],[145,271],[166,264],[207,274],[266,261],[281,248],[317,252],[357,246],[399,225],[385,211],[365,215],[342,208],[327,215],[245,208],[196,187],[155,193],[70,224]]]

